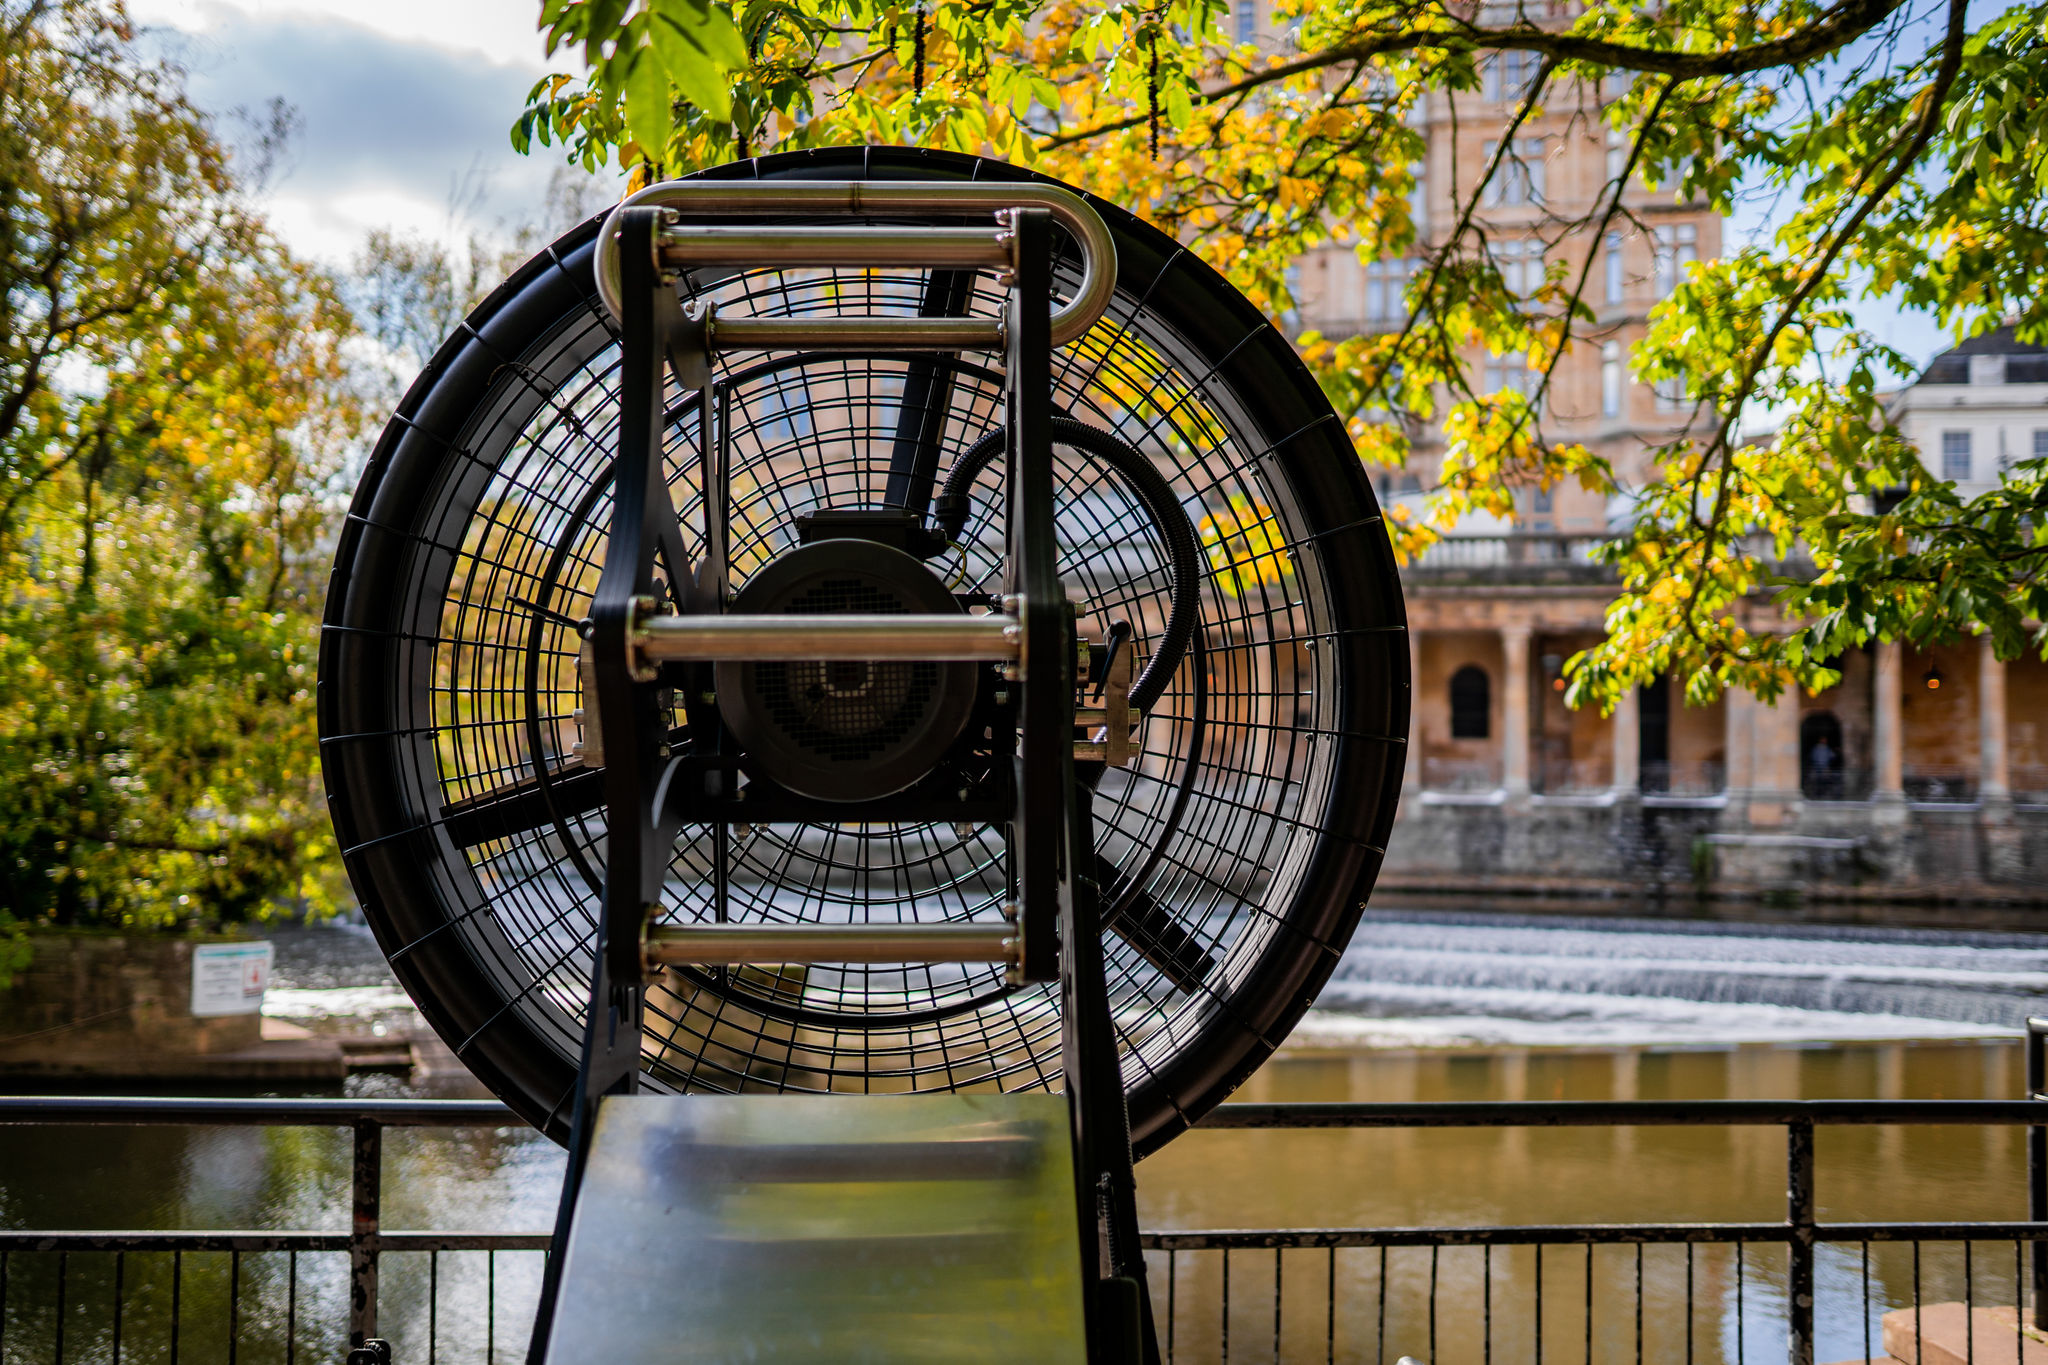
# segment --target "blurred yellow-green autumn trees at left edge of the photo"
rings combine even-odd
[[[330,280],[119,0],[0,0],[0,905],[324,909],[313,669],[356,428]]]

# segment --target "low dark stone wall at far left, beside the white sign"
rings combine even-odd
[[[193,1017],[193,948],[150,933],[37,933],[33,958],[0,990],[0,1070],[152,1074],[166,1060],[242,1052],[260,1015]]]

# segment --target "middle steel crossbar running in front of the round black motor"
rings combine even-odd
[[[670,659],[981,659],[1018,663],[1016,616],[645,616],[635,634],[649,663]]]

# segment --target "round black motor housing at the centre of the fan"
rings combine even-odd
[[[924,616],[961,604],[918,559],[879,540],[801,544],[748,579],[733,612]],[[719,712],[739,765],[815,800],[874,800],[924,778],[961,737],[977,667],[950,659],[723,661]]]

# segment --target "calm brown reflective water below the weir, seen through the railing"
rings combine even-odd
[[[1716,1099],[2011,1097],[2013,1044],[1606,1052],[1303,1052],[1270,1062],[1239,1099]],[[356,1093],[391,1087],[375,1078]],[[397,1093],[391,1087],[391,1093]],[[344,1132],[0,1128],[0,1224],[8,1228],[348,1226]],[[1974,1220],[2023,1216],[2017,1130],[1829,1128],[1819,1134],[1823,1220]],[[561,1156],[518,1130],[393,1130],[385,1138],[385,1226],[545,1230]],[[1784,1134],[1772,1128],[1194,1132],[1139,1171],[1147,1228],[1425,1226],[1552,1222],[1778,1222]],[[172,1257],[74,1254],[63,1275],[63,1359],[109,1361],[121,1275],[123,1359],[172,1359]],[[344,1351],[346,1259],[186,1254],[176,1287],[178,1353],[221,1361],[229,1312],[240,1361],[334,1361]],[[1980,1246],[1970,1267],[1985,1304],[2013,1302],[2011,1246]],[[1229,1322],[1223,1257],[1155,1261],[1171,1293],[1176,1361],[1642,1359],[1769,1361],[1784,1353],[1784,1252],[1653,1246],[1587,1254],[1550,1248],[1235,1252]],[[1929,1248],[1927,1302],[1962,1297],[1962,1252]],[[1538,1273],[1542,1293],[1538,1297]],[[520,1359],[539,1257],[449,1252],[385,1257],[385,1332],[399,1359]],[[1282,1289],[1274,1312],[1274,1283]],[[1858,1246],[1827,1246],[1819,1267],[1821,1361],[1862,1359],[1866,1322],[1913,1295],[1907,1248],[1872,1246],[1864,1310]],[[8,1257],[0,1359],[53,1361],[59,1259]],[[1430,1285],[1436,1281],[1436,1314]],[[238,1281],[238,1283],[233,1283]],[[229,1289],[233,1308],[229,1308]],[[1384,1287],[1384,1295],[1382,1295]],[[496,1314],[489,1312],[496,1304]],[[1741,1310],[1741,1312],[1739,1312]],[[1737,1330],[1741,1322],[1741,1330]],[[1491,1324],[1491,1336],[1489,1336]],[[1688,1324],[1692,1328],[1688,1357]],[[1335,1347],[1327,1345],[1335,1334]],[[1432,1349],[1434,1336],[1434,1349]],[[1591,1347],[1587,1347],[1591,1340]],[[1872,1328],[1872,1340],[1876,1334]],[[1489,1349],[1491,1342],[1491,1349]]]

